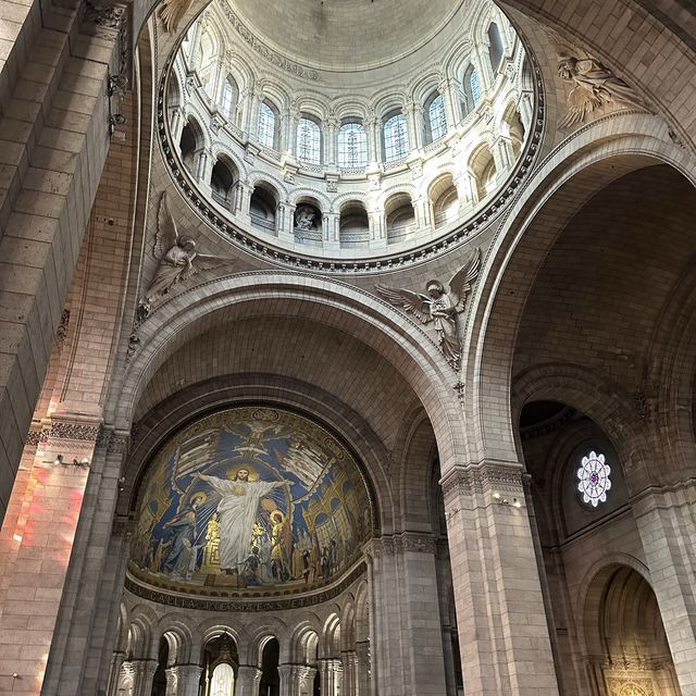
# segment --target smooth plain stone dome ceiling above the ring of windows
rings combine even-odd
[[[397,61],[431,40],[463,0],[227,0],[269,46],[303,65],[360,71]]]

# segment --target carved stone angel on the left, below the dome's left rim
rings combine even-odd
[[[149,308],[152,302],[166,295],[176,283],[187,281],[201,271],[232,263],[232,259],[198,253],[196,241],[191,237],[179,236],[174,217],[166,206],[166,192],[160,198],[153,251],[160,264],[145,297],[140,300],[140,306],[145,308]]]

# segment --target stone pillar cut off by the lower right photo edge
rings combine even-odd
[[[641,496],[633,502],[650,582],[682,694],[696,694],[696,485]]]

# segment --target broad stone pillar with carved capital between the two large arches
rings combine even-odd
[[[467,696],[558,696],[522,467],[442,480]]]

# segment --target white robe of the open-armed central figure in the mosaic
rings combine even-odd
[[[277,487],[277,481],[226,481],[201,475],[220,494],[220,568],[238,573],[249,558],[251,533],[259,500]]]

